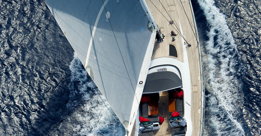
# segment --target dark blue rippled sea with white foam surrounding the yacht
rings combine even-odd
[[[260,136],[261,1],[192,5],[204,63],[204,135]],[[43,0],[0,0],[0,76],[1,136],[124,135]]]

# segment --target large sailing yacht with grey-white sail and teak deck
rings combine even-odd
[[[45,0],[126,135],[203,135],[190,0]]]

